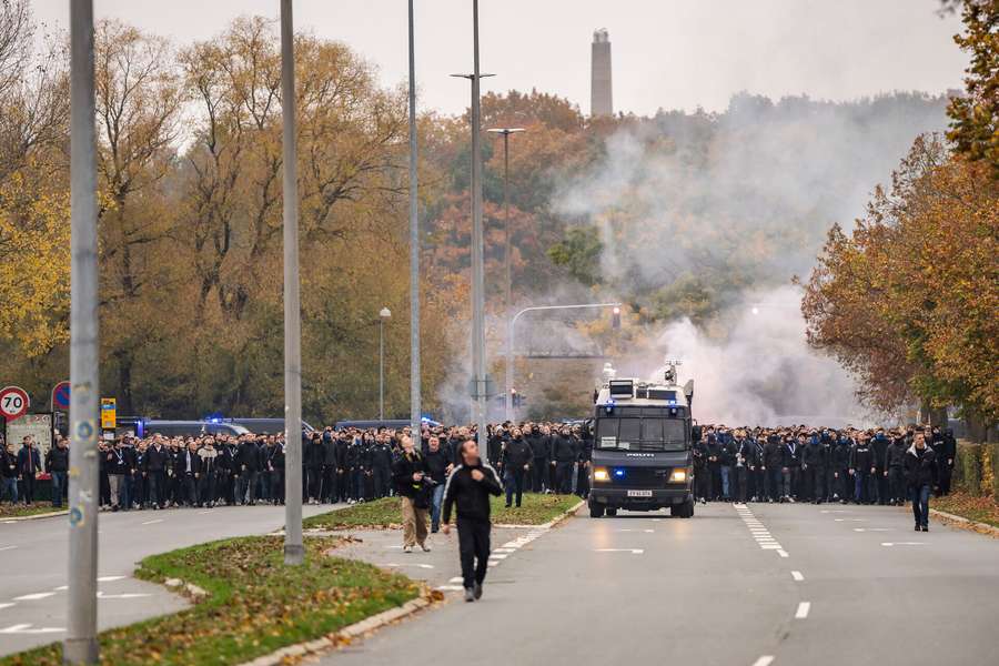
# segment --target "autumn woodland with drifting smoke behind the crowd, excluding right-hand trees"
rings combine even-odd
[[[11,352],[0,375],[43,403],[68,374],[67,57],[59,36],[36,53],[27,3],[13,6],[22,13],[0,27],[0,339]],[[102,394],[120,413],[280,414],[276,26],[241,18],[181,46],[104,22],[97,48]],[[404,88],[381,87],[362,54],[310,34],[296,39],[296,70],[304,414],[374,413],[377,312],[389,306],[386,405],[403,415]],[[486,94],[484,128],[527,130],[511,140],[514,305],[620,300],[623,330],[604,314],[565,322],[555,337],[646,366],[662,359],[670,323],[689,320],[724,343],[739,321],[733,312],[807,274],[829,228],[862,214],[915,138],[947,127],[947,105],[922,93],[847,102],[741,93],[723,113],[589,119],[544,92]],[[467,115],[425,110],[418,134],[424,404],[463,418]],[[508,316],[503,155],[502,143],[483,145],[496,359]],[[804,340],[797,321],[788,334]],[[542,322],[518,332],[553,337]],[[595,364],[519,361],[518,376],[535,382],[522,389],[528,413],[585,407]],[[493,367],[498,376],[502,363]]]

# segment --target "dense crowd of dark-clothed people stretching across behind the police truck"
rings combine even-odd
[[[400,494],[398,464],[410,428],[303,435],[303,501],[359,503]],[[694,444],[696,500],[724,502],[852,502],[900,505],[910,498],[910,461],[917,437],[934,455],[930,485],[950,490],[956,442],[950,431],[761,428],[704,426]],[[424,426],[417,447],[426,465],[431,529],[441,523],[444,483],[474,427]],[[415,440],[414,440],[415,442]],[[101,442],[100,506],[105,511],[214,507],[284,502],[283,435],[122,436]],[[507,506],[524,492],[586,497],[593,438],[582,424],[522,423],[488,426],[485,460],[500,471]],[[0,497],[34,501],[38,474],[50,474],[52,504],[67,493],[69,442],[58,437],[44,456],[30,437],[2,452]],[[19,484],[20,482],[20,484]],[[405,480],[403,480],[403,485]],[[20,488],[20,490],[19,490]]]

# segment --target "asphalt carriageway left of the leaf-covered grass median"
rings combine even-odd
[[[304,506],[306,516],[330,506]],[[222,506],[102,513],[98,622],[101,629],[175,613],[186,602],[131,577],[143,557],[283,526],[283,506]],[[65,516],[0,522],[0,655],[61,640],[65,629],[69,527]]]

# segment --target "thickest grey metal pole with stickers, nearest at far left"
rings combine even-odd
[[[70,0],[69,622],[62,658],[97,664],[98,233],[93,0]]]

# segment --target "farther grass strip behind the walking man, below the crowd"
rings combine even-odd
[[[538,495],[526,493],[519,508],[505,508],[503,497],[493,497],[493,523],[497,525],[543,525],[578,504],[575,495]],[[312,516],[304,521],[313,529],[391,529],[402,527],[398,497],[354,504],[346,508]]]

